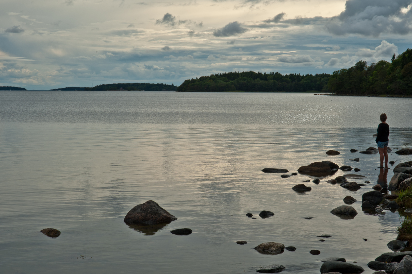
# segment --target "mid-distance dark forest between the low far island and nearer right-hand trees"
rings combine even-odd
[[[254,71],[229,72],[201,76],[196,79],[185,80],[178,91],[198,92],[304,92],[304,91],[328,91],[330,74],[286,74],[261,73]]]

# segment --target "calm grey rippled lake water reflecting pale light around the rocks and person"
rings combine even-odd
[[[412,147],[411,98],[0,91],[0,272],[227,274],[280,264],[285,274],[317,274],[319,260],[343,257],[370,274],[366,264],[390,252],[399,213],[362,211],[379,155],[349,150],[376,147],[382,112],[389,147]],[[395,151],[390,160],[412,160]],[[300,194],[291,187],[315,177],[261,171],[290,174],[323,160],[357,167],[367,178],[355,181],[371,183],[358,191],[326,183],[355,173],[339,170]],[[330,213],[347,195],[358,200],[352,220]],[[126,225],[126,213],[147,200],[178,219],[157,230]],[[274,216],[262,219],[262,210]],[[60,237],[39,232],[47,227]],[[185,227],[193,233],[170,233]],[[321,242],[320,234],[332,237]],[[297,249],[253,249],[269,241]]]

